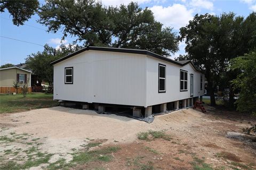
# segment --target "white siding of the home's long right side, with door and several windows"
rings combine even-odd
[[[194,97],[204,94],[204,75],[203,90],[200,90],[200,75],[198,71],[187,64],[179,66],[170,62],[165,62],[147,56],[147,88],[146,88],[146,107],[168,103],[171,101],[190,98],[190,74],[194,74]],[[158,64],[166,65],[166,92],[158,92]],[[180,91],[180,69],[188,71],[188,91]]]

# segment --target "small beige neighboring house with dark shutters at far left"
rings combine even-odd
[[[1,94],[7,94],[11,92],[16,92],[13,87],[13,82],[19,82],[20,86],[23,83],[28,83],[28,91],[31,92],[31,71],[21,69],[20,67],[13,66],[0,69],[0,92]],[[18,92],[21,92],[19,88]]]

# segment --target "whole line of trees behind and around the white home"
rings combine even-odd
[[[23,24],[37,13],[40,17],[38,22],[46,25],[48,31],[62,30],[62,39],[67,35],[75,36],[77,39],[74,44],[82,41],[83,46],[147,49],[168,56],[178,51],[179,41],[185,41],[187,55],[176,60],[191,60],[204,71],[211,105],[215,105],[214,92],[218,86],[220,90],[229,89],[230,106],[234,105],[236,92],[241,96],[237,100],[239,110],[243,111],[243,107],[239,106],[242,101],[256,107],[255,88],[245,87],[248,83],[241,83],[244,77],[251,76],[246,80],[252,81],[256,72],[252,64],[256,59],[255,12],[247,18],[232,12],[219,16],[196,14],[186,27],[180,28],[178,36],[172,28],[163,27],[162,23],[157,22],[148,8],[142,9],[133,2],[107,7],[93,0],[48,0],[41,6],[36,0],[1,1],[1,12],[5,8],[13,15],[16,25]],[[79,48],[62,46],[54,56],[54,49],[46,45],[44,52],[31,54],[26,62],[42,79],[52,84],[53,73],[49,63]],[[246,64],[250,68],[245,69]],[[47,71],[43,71],[46,68]],[[250,100],[242,98],[245,89],[245,96],[251,95]],[[253,107],[246,112],[253,112]]]

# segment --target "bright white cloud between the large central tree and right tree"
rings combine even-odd
[[[188,10],[185,5],[173,4],[172,6],[153,6],[150,10],[157,21],[178,30],[186,26],[193,19],[193,10]]]

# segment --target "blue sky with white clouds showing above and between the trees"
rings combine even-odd
[[[102,0],[104,5],[128,4],[129,0]],[[174,28],[179,33],[179,28],[185,26],[189,20],[193,19],[195,14],[211,13],[219,15],[223,12],[234,12],[244,17],[252,11],[256,11],[256,0],[237,0],[237,1],[218,1],[218,0],[140,0],[137,1],[142,8],[146,6],[153,11],[157,21],[162,22],[165,26]],[[41,3],[43,3],[41,1]],[[0,35],[4,37],[28,41],[34,44],[28,44],[20,41],[0,37],[0,65],[6,63],[19,64],[25,62],[25,58],[31,53],[42,51],[46,43],[54,48],[60,45],[62,37],[61,31],[57,33],[48,33],[47,27],[36,22],[37,15],[32,16],[25,25],[17,27],[12,23],[12,17],[5,11],[1,13],[0,18]],[[74,37],[67,37],[62,43],[68,44],[75,40]],[[185,44],[179,45],[178,53],[171,56],[185,54]]]

